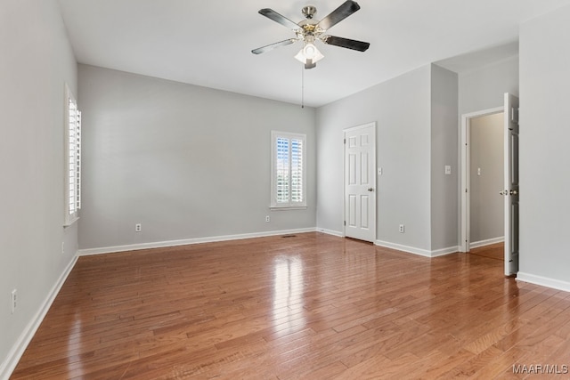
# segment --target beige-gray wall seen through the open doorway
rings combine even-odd
[[[503,113],[475,117],[470,122],[471,243],[504,237]],[[480,174],[478,169],[481,169]]]

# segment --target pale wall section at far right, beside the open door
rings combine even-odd
[[[519,279],[570,291],[570,6],[520,28]]]

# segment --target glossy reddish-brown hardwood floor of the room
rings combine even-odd
[[[305,233],[80,257],[12,378],[554,379],[568,365],[569,293],[480,255]]]

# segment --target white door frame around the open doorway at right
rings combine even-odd
[[[460,133],[460,145],[461,145],[461,229],[460,229],[460,252],[469,252],[469,247],[471,245],[471,222],[470,222],[470,207],[471,207],[471,181],[470,181],[470,131],[471,131],[471,119],[476,117],[484,117],[489,115],[498,114],[504,112],[504,105],[501,107],[495,107],[493,109],[483,109],[476,112],[470,112],[461,115],[461,133]],[[504,158],[503,158],[504,159]]]

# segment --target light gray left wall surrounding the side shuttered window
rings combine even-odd
[[[53,0],[4,0],[0,52],[0,378],[4,378],[77,252],[77,225],[62,227],[64,84],[77,94],[77,67]],[[19,299],[12,314],[14,288]]]

